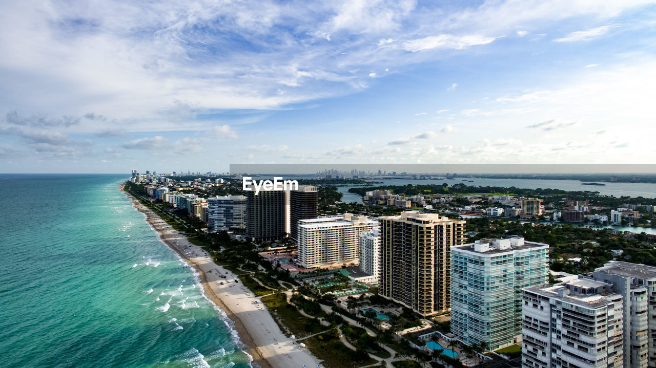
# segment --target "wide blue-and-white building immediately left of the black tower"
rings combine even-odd
[[[207,227],[211,231],[246,229],[246,196],[207,198]]]

